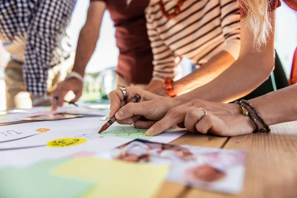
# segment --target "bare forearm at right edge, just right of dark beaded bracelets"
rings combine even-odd
[[[251,99],[268,125],[297,120],[297,85]]]

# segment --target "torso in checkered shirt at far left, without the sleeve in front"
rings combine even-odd
[[[19,62],[25,61],[25,48],[28,31],[32,28],[39,0],[6,0],[0,6],[0,41],[11,58]],[[59,31],[59,44],[52,52],[51,66],[68,57],[71,51],[69,37],[65,29]]]

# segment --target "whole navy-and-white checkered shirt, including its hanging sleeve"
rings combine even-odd
[[[69,56],[66,35],[76,0],[1,0],[0,40],[23,63],[27,90],[47,94],[48,70]]]

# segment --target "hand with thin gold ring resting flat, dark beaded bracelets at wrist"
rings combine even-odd
[[[205,109],[207,115],[200,108]],[[220,136],[237,136],[255,130],[249,116],[244,116],[238,104],[207,102],[199,99],[171,108],[161,120],[154,123],[146,132],[155,136],[178,124],[191,132],[206,134],[211,132]],[[148,125],[147,125],[148,127]]]

